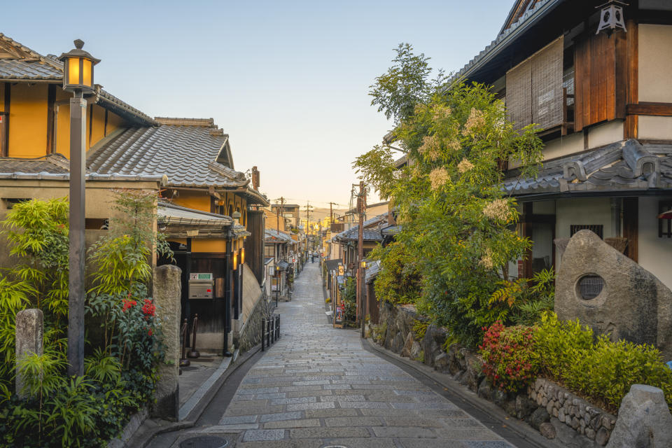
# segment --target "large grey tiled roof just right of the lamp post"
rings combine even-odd
[[[87,165],[100,174],[165,174],[167,186],[246,186],[243,173],[215,162],[227,139],[208,127],[132,127],[95,148]]]

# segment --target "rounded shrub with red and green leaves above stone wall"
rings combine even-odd
[[[505,327],[500,321],[483,328],[483,373],[496,388],[517,392],[537,377],[539,357],[534,351],[534,328]]]

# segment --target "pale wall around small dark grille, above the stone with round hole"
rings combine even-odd
[[[609,198],[576,198],[556,201],[556,238],[569,238],[570,225],[601,224],[603,236],[612,237],[611,202]],[[560,254],[556,251],[555,265],[560,266]]]

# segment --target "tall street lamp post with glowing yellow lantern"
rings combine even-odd
[[[63,53],[63,90],[72,92],[70,99],[70,258],[68,283],[68,375],[84,373],[84,301],[85,301],[85,92],[94,92],[93,66],[100,62],[82,50],[77,39],[75,48]]]

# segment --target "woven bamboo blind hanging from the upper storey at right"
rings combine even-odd
[[[517,130],[562,124],[563,46],[558,38],[506,73],[508,117]]]

